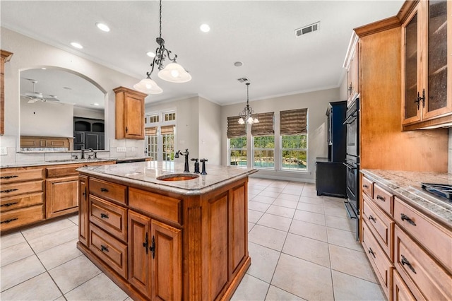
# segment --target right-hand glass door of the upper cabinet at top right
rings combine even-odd
[[[427,87],[423,118],[452,112],[452,2],[425,1],[427,6]],[[448,20],[448,16],[451,16]]]

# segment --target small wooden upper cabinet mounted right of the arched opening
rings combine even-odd
[[[116,138],[144,139],[144,93],[118,87],[116,93]]]

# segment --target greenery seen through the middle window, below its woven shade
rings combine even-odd
[[[253,167],[275,168],[275,136],[253,137]]]

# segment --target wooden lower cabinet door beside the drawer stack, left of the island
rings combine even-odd
[[[46,180],[46,218],[78,211],[78,176]]]

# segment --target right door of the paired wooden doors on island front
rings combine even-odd
[[[182,232],[157,220],[150,228],[151,300],[182,300]]]

